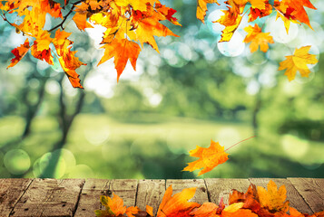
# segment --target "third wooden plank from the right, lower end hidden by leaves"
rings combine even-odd
[[[232,189],[240,192],[246,192],[250,186],[248,179],[224,179],[224,178],[207,178],[205,179],[210,201],[219,204],[221,198],[224,203],[229,203],[229,197]]]

